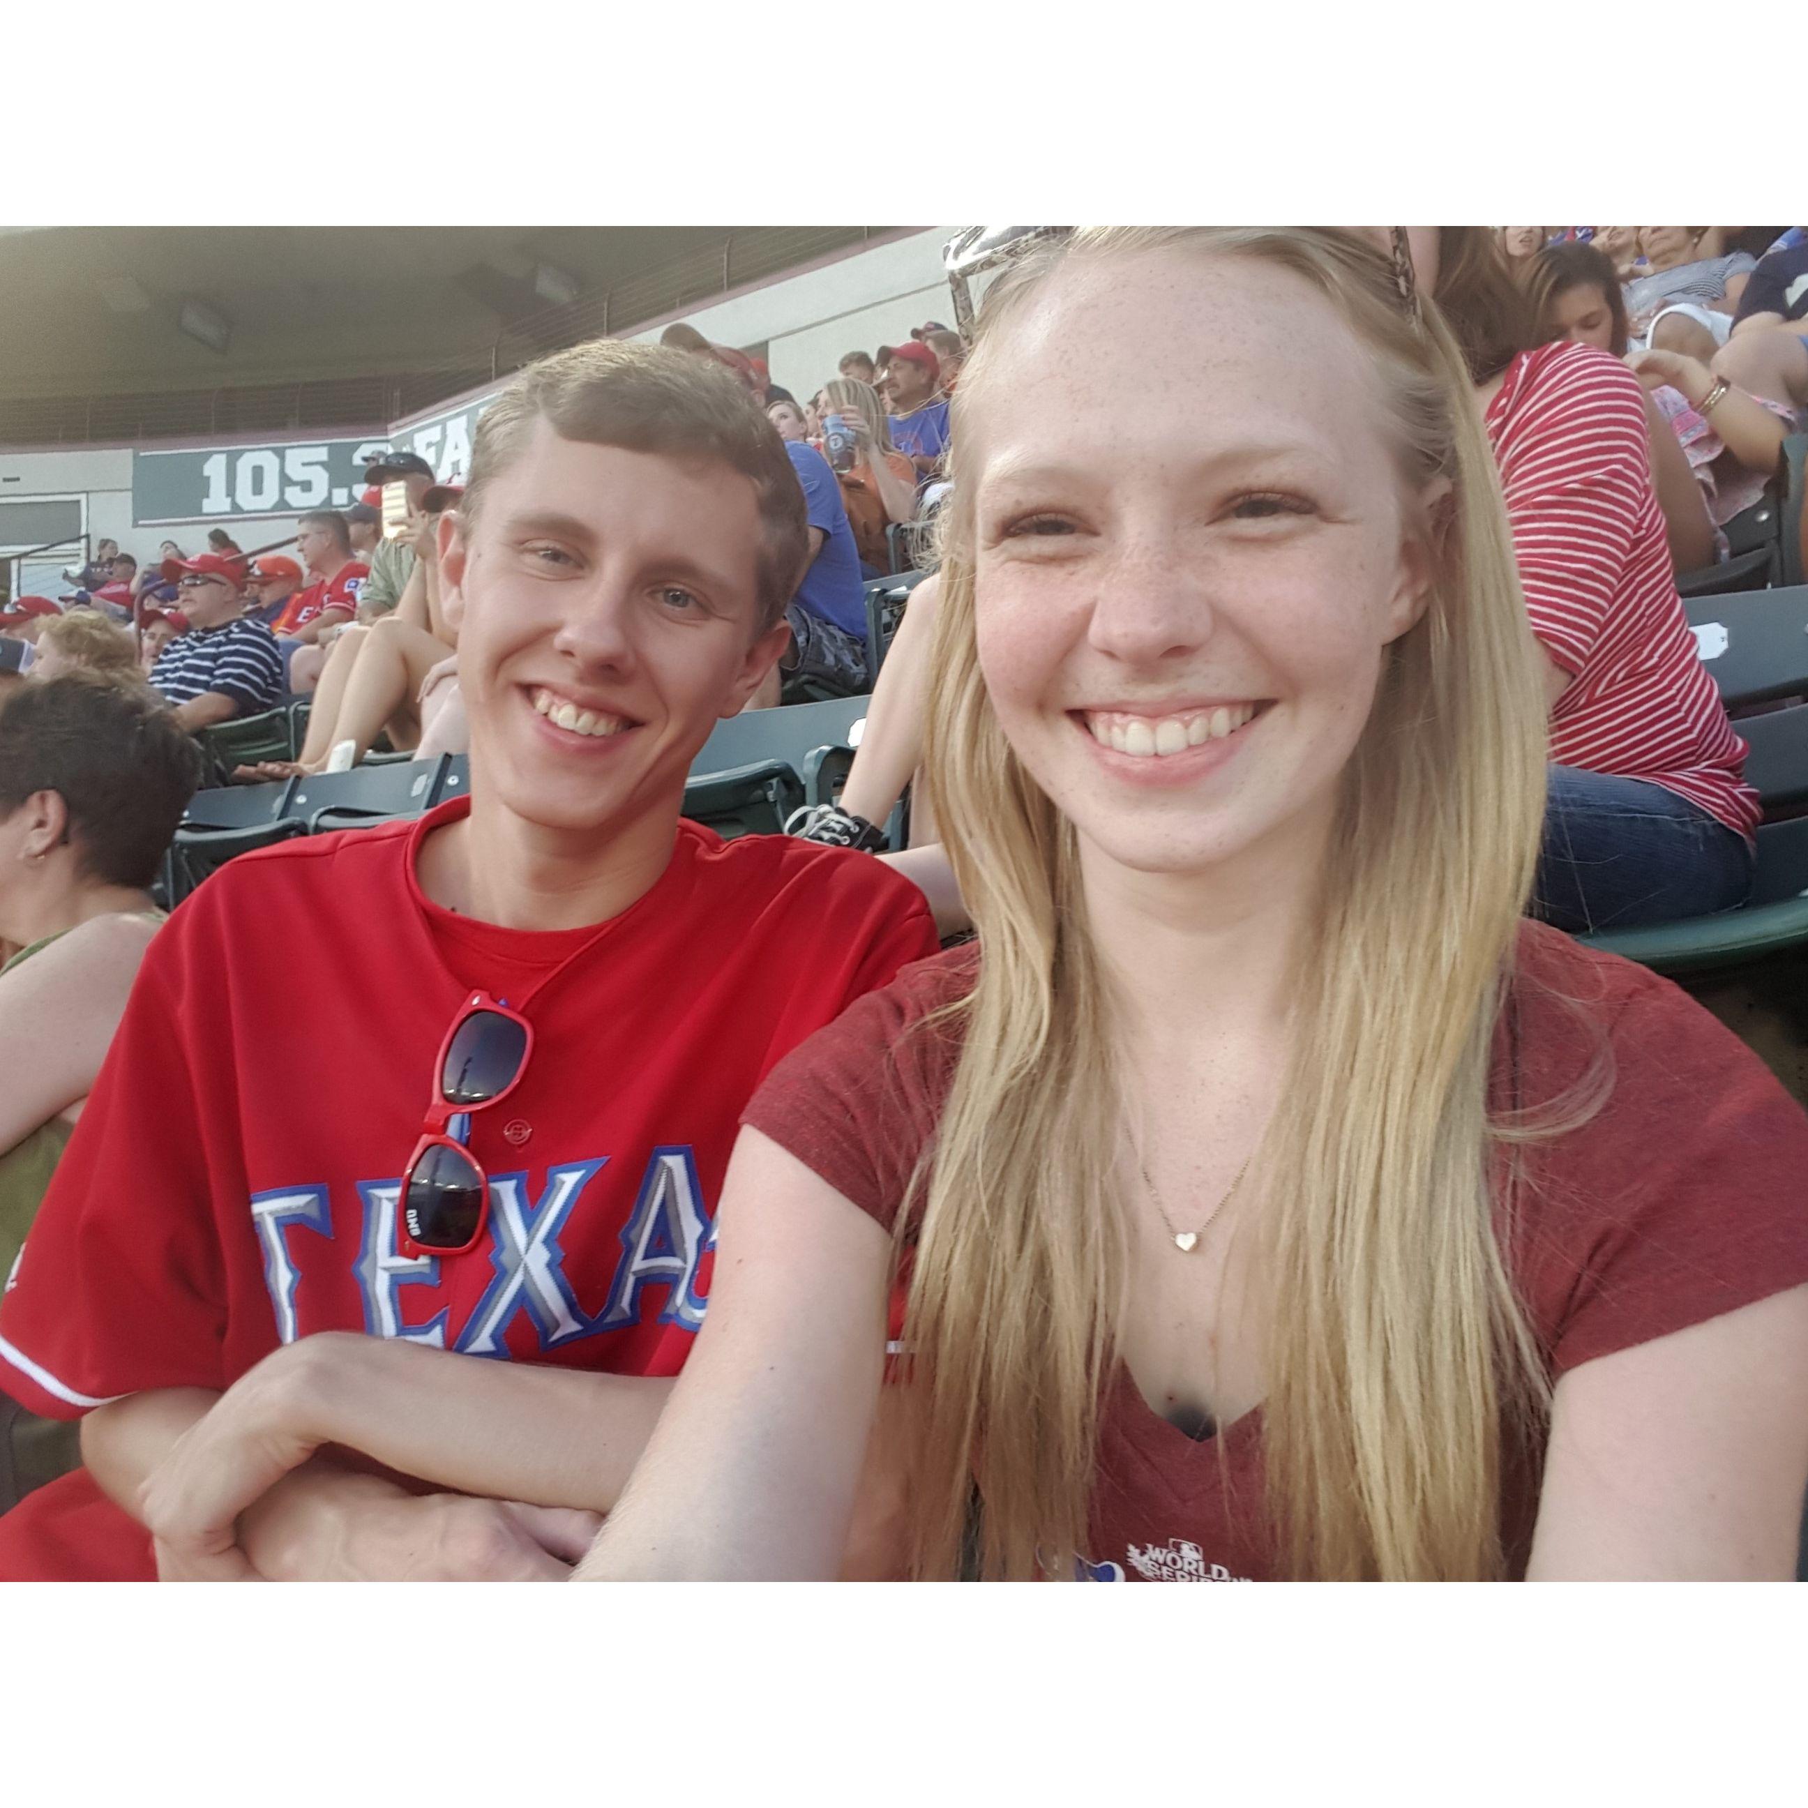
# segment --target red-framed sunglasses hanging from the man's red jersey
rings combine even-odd
[[[488,993],[472,993],[447,1031],[434,1101],[401,1173],[396,1240],[405,1257],[463,1255],[490,1219],[490,1177],[465,1146],[470,1114],[508,1097],[528,1070],[533,1025]]]

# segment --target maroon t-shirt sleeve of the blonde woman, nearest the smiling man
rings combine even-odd
[[[958,1050],[928,1009],[962,989],[971,951],[906,967],[794,1049],[741,1123],[890,1228],[940,1116]]]

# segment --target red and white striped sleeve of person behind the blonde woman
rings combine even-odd
[[[1589,349],[1544,360],[1495,457],[1531,631],[1573,676],[1600,638],[1651,485],[1638,378]]]

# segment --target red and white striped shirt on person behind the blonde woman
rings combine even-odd
[[[1638,378],[1593,345],[1539,345],[1486,425],[1531,631],[1569,673],[1551,759],[1662,785],[1750,837],[1757,792],[1676,595]]]

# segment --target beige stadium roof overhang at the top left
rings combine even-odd
[[[0,398],[240,387],[427,369],[577,298],[702,306],[738,269],[871,228],[22,228],[0,239]],[[808,240],[808,242],[806,242]],[[720,277],[718,280],[718,264]],[[689,293],[687,293],[689,291]]]

